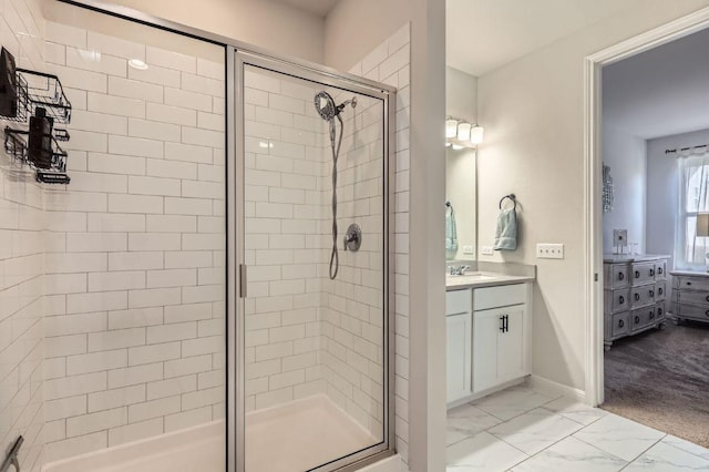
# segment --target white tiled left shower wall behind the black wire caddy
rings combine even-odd
[[[0,4],[0,45],[14,55],[18,66],[43,69],[39,1]],[[0,126],[7,125],[18,127],[0,119]],[[32,172],[0,148],[0,460],[22,435],[19,460],[25,471],[40,470],[44,441],[52,434],[44,428],[43,404],[43,228],[41,186]],[[74,283],[68,281],[66,288],[73,289]],[[51,283],[54,289],[62,285]]]

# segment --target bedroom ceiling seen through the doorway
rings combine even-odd
[[[646,140],[709,129],[709,30],[603,70],[603,120]]]

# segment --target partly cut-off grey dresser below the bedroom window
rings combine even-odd
[[[672,271],[672,318],[709,322],[709,274]]]

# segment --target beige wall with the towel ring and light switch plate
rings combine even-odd
[[[490,245],[497,199],[521,204],[521,245],[482,260],[536,264],[533,372],[584,389],[584,57],[709,4],[637,0],[586,28],[479,79],[479,245]],[[537,260],[537,243],[563,243],[564,260]]]

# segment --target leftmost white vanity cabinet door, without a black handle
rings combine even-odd
[[[450,403],[471,394],[472,326],[471,314],[445,317],[446,328],[446,399]]]

